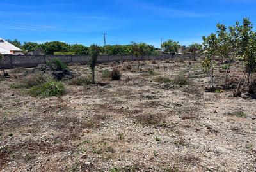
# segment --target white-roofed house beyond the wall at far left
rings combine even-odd
[[[0,54],[23,55],[23,51],[20,50],[20,48],[15,47],[8,41],[0,38]]]

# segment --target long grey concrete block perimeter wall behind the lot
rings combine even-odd
[[[173,58],[188,58],[191,55],[175,55]],[[86,64],[90,57],[88,55],[4,55],[3,60],[0,62],[0,69],[11,68],[33,68],[38,64],[51,61],[51,59],[61,59],[61,61],[72,64]],[[135,60],[158,60],[158,59],[171,59],[171,55],[146,55],[144,57],[135,57],[133,55],[99,55],[98,62],[118,62],[118,61],[135,61]]]

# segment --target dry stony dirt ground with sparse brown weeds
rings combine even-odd
[[[64,82],[67,94],[48,98],[11,89],[23,76],[9,71],[0,81],[0,171],[256,171],[255,99],[206,92],[200,62],[116,65],[128,64],[121,81],[102,78],[113,65],[100,64],[102,84]],[[229,75],[239,73],[233,66]],[[182,74],[189,85],[155,82]]]

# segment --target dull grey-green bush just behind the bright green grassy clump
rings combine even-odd
[[[19,82],[13,83],[11,87],[14,89],[20,89],[20,88],[29,89],[30,87],[40,85],[44,82],[46,82],[46,78],[44,75],[40,75],[40,74],[28,75],[20,79]]]

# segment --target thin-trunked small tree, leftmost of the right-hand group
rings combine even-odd
[[[216,56],[217,47],[218,47],[218,39],[216,37],[216,34],[211,34],[207,38],[203,36],[203,46],[205,52],[207,52],[207,61],[209,61],[211,64],[209,64],[210,71],[211,71],[211,90],[213,90],[213,78],[214,78],[214,68],[216,66],[216,63],[214,61],[214,57]]]

